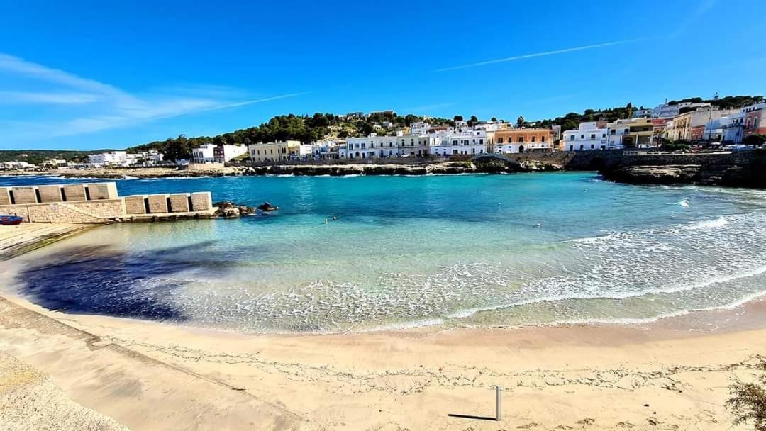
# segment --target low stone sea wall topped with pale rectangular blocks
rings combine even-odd
[[[119,197],[113,182],[0,188],[0,214],[34,223],[104,224],[213,217],[209,191]]]

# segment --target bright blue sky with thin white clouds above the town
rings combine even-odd
[[[0,3],[0,149],[283,113],[542,119],[766,92],[762,1],[227,3]]]

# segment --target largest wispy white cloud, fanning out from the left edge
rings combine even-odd
[[[254,103],[300,96],[304,93],[265,96],[250,100],[237,100],[237,93],[224,87],[183,87],[182,90],[133,94],[108,83],[79,77],[74,73],[46,67],[19,57],[0,53],[0,74],[15,77],[31,90],[2,88],[0,105],[14,106],[39,104],[41,106],[72,106],[71,112],[38,122],[4,121],[15,124],[11,136],[45,139],[57,136],[77,136],[106,129],[133,126],[143,122],[203,113],[216,109],[232,109]],[[0,75],[0,76],[2,76]],[[6,81],[6,80],[3,80]],[[9,82],[9,81],[8,81]],[[52,90],[51,90],[52,88]],[[241,96],[240,96],[241,97]]]

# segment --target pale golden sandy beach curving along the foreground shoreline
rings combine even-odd
[[[745,429],[766,304],[647,325],[239,335],[0,300],[0,350],[130,429]],[[500,422],[493,385],[502,391]]]

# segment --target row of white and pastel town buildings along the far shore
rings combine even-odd
[[[395,127],[391,121],[375,122],[368,136],[329,137],[314,142],[286,139],[277,142],[199,145],[189,158],[167,160],[162,152],[126,150],[88,155],[87,162],[51,158],[34,165],[24,161],[0,163],[2,170],[38,171],[67,168],[128,168],[204,165],[209,170],[225,164],[269,165],[284,162],[339,160],[413,162],[414,160],[464,160],[477,155],[518,155],[541,152],[598,150],[677,151],[751,149],[766,142],[766,103],[724,109],[711,102],[663,103],[653,109],[632,109],[630,118],[580,122],[577,129],[549,128],[535,122],[516,124],[496,119],[466,121],[455,116],[447,123],[411,122]],[[394,119],[392,110],[366,114]],[[342,118],[364,118],[349,113]]]

